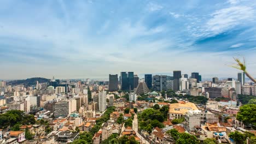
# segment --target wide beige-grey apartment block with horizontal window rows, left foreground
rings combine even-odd
[[[55,117],[67,117],[69,114],[69,102],[59,101],[54,105],[54,116]]]

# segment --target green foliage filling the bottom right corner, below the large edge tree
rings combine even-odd
[[[245,143],[246,141],[246,138],[249,137],[250,139],[254,140],[256,139],[255,135],[252,134],[252,133],[249,133],[249,132],[245,132],[244,134],[243,133],[240,133],[238,131],[235,131],[235,132],[231,132],[229,134],[229,137],[231,139],[233,139],[236,144],[242,144],[242,143]],[[252,142],[251,142],[252,143]]]

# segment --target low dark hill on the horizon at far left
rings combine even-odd
[[[39,83],[45,83],[45,82],[50,82],[49,79],[45,79],[43,77],[33,77],[30,79],[26,79],[26,80],[14,80],[14,81],[9,81],[7,82],[7,85],[25,85],[25,86],[33,86],[33,85],[37,85],[37,81]]]

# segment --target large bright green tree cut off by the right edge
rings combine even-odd
[[[256,104],[241,106],[236,118],[244,124],[256,125]]]

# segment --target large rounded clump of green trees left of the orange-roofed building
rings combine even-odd
[[[163,112],[164,109],[162,110]],[[164,128],[165,113],[160,110],[146,109],[138,115],[139,129],[146,130],[148,133],[152,132],[155,127]]]

